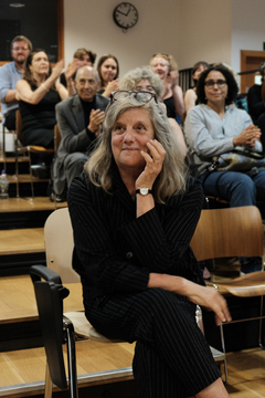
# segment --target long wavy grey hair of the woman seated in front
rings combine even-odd
[[[113,170],[115,166],[112,151],[112,132],[118,117],[132,108],[148,111],[155,132],[155,139],[166,150],[162,170],[152,187],[155,200],[159,203],[165,203],[171,196],[182,193],[186,190],[188,169],[180,145],[171,132],[168,118],[155,100],[148,103],[140,103],[134,98],[134,95],[130,95],[126,98],[114,101],[107,106],[103,133],[98,137],[97,145],[85,165],[85,170],[94,185],[112,193]]]

